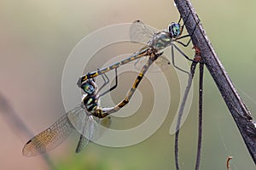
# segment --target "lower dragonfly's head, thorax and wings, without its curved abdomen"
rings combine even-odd
[[[55,149],[61,144],[74,129],[79,131],[80,138],[76,152],[79,153],[96,136],[96,130],[99,124],[109,127],[111,123],[110,116],[100,105],[100,97],[107,94],[112,89],[99,94],[104,86],[109,82],[106,75],[102,75],[104,83],[101,88],[97,87],[94,79],[90,78],[83,82],[81,87],[84,89],[84,97],[80,105],[72,111],[61,116],[54,124],[43,132],[38,133],[32,139],[28,140],[22,150],[23,156],[37,156]],[[116,77],[117,81],[117,77]]]

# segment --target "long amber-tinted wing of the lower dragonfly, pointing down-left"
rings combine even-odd
[[[74,114],[79,108],[75,108]],[[68,114],[68,113],[67,113]],[[37,156],[49,150],[55,149],[61,142],[67,139],[67,136],[73,131],[73,125],[69,122],[67,114],[51,125],[49,128],[30,139],[22,150],[23,156]]]

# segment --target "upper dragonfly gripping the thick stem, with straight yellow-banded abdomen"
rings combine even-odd
[[[184,20],[184,22],[186,22],[186,20]],[[178,48],[174,42],[178,42],[184,47],[187,47],[191,39],[189,39],[189,42],[187,43],[183,43],[179,41],[184,37],[190,37],[190,35],[181,36],[184,25],[181,26],[180,21],[181,21],[181,18],[180,20],[178,20],[177,23],[172,22],[172,24],[168,26],[167,30],[159,31],[156,33],[152,28],[145,26],[142,21],[140,20],[134,21],[130,29],[131,41],[147,42],[146,46],[139,49],[136,53],[131,54],[130,57],[123,59],[117,63],[114,63],[113,65],[110,65],[102,69],[98,69],[97,71],[88,72],[86,75],[79,78],[78,86],[80,87],[81,83],[86,81],[88,78],[97,77],[103,73],[106,73],[115,68],[118,68],[120,65],[125,65],[133,60],[141,59],[144,56],[149,56],[149,59],[155,60],[155,56],[160,56],[161,54],[163,54],[162,50],[169,46],[171,46],[172,48],[172,65],[176,67],[178,70],[183,71],[182,69],[177,67],[174,63],[174,48],[177,49],[177,52],[182,54],[183,57],[185,57],[186,59],[189,59],[189,57],[186,54],[184,54],[183,51],[180,48]],[[189,59],[189,60],[193,61],[193,59]],[[184,71],[184,72],[187,72],[187,71]]]

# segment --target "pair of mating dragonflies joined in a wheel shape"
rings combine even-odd
[[[186,20],[187,19],[183,21],[183,26],[181,26],[180,18],[177,23],[173,22],[171,25],[169,25],[167,31],[159,31],[157,33],[154,33],[151,28],[145,26],[142,21],[136,20],[131,25],[131,41],[147,42],[147,45],[139,49],[136,53],[131,54],[131,56],[127,59],[123,59],[106,68],[89,72],[88,74],[80,77],[78,81],[78,86],[79,88],[82,88],[85,93],[81,104],[75,107],[72,111],[68,111],[67,114],[62,116],[57,122],[44,130],[42,133],[39,133],[38,135],[30,139],[25,144],[22,150],[23,156],[37,156],[49,150],[55,149],[55,147],[61,144],[62,141],[67,139],[67,136],[72,133],[74,129],[77,129],[79,133],[81,133],[76,152],[82,150],[86,146],[86,144],[88,144],[90,140],[94,138],[96,126],[98,125],[98,123],[102,124],[105,127],[108,127],[110,122],[110,117],[108,115],[119,111],[119,109],[128,104],[132,95],[135,93],[137,86],[142,81],[144,74],[146,73],[146,71],[148,71],[150,65],[152,65],[154,61],[163,54],[162,50],[164,48],[167,48],[169,46],[172,48],[172,65],[178,70],[183,71],[174,64],[174,49],[176,49],[177,52],[182,54],[183,57],[185,57],[186,59],[189,59],[189,57],[184,54],[174,42],[177,42],[184,47],[187,47],[189,45],[189,42],[191,40],[190,38],[189,42],[187,43],[180,42],[180,39],[184,37],[190,37],[190,35],[181,36]],[[131,61],[141,59],[145,56],[148,57],[148,60],[143,65],[143,68],[139,72],[136,81],[133,83],[125,99],[119,102],[118,105],[115,105],[113,107],[102,107],[100,105],[100,98],[102,97],[102,95],[109,93],[118,85],[118,67],[120,65],[125,65]],[[195,61],[194,59],[189,60]],[[102,88],[104,88],[109,82],[109,79],[105,73],[111,70],[115,70],[115,85],[100,94]],[[94,81],[94,77],[100,75],[102,76],[104,83],[101,88],[98,88],[96,82]]]

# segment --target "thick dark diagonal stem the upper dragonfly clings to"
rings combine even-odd
[[[199,18],[197,14],[195,14],[195,9],[192,7],[189,0],[174,0],[174,2],[183,19],[189,15],[185,26],[190,35],[195,26],[198,25],[191,37],[192,42],[196,47],[201,49],[201,57],[236,122],[242,139],[247,145],[247,150],[251,154],[254,163],[256,163],[256,122],[253,121],[253,116],[247,110],[241,97],[237,94],[234,84],[231,82],[230,77],[224,70],[224,66],[218,59],[218,55],[212,48],[206,31],[204,31],[201,24],[198,24]]]

